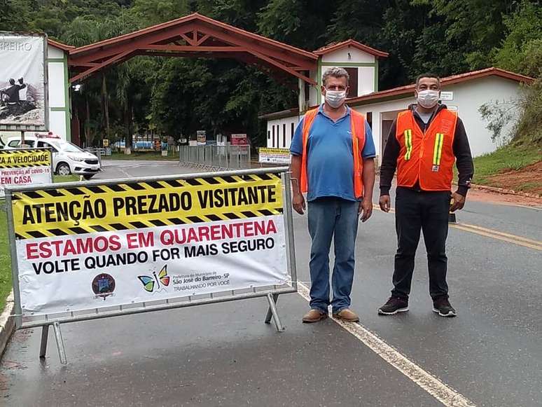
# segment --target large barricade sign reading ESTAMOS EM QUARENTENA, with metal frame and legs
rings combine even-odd
[[[295,292],[286,168],[6,190],[16,326]]]

